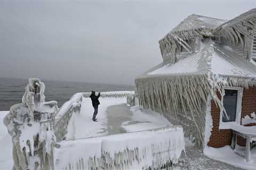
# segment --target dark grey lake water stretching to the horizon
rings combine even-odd
[[[46,101],[57,100],[60,107],[76,92],[134,90],[133,86],[41,80],[45,84]],[[9,111],[13,104],[21,103],[28,80],[0,78],[0,111]]]

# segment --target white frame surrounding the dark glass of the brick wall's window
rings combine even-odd
[[[243,88],[242,87],[224,87],[224,92],[221,95],[222,96],[221,97],[222,105],[223,105],[223,98],[225,96],[225,90],[237,90],[236,120],[234,122],[222,122],[223,109],[220,109],[219,129],[230,129],[230,125],[232,125],[234,123],[241,124]]]

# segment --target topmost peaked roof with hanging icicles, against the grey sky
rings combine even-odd
[[[191,47],[186,41],[191,38],[203,38],[204,36],[213,37],[212,31],[225,22],[226,20],[210,18],[207,16],[196,14],[189,15],[185,20],[180,22],[177,27],[159,40],[159,47],[163,60],[166,60],[166,56],[169,54],[173,54],[172,57],[175,58],[176,53],[180,52],[181,47],[189,50]]]

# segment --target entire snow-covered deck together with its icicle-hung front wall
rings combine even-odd
[[[172,126],[159,113],[127,106],[126,96],[99,100],[98,122],[94,122],[91,99],[83,95],[81,111],[72,114],[66,140],[55,150],[57,168],[99,168],[106,161],[109,169],[178,163],[185,149],[182,128]]]

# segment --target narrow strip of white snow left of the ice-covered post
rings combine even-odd
[[[0,169],[12,169],[12,138],[7,132],[3,120],[9,111],[0,111]]]

